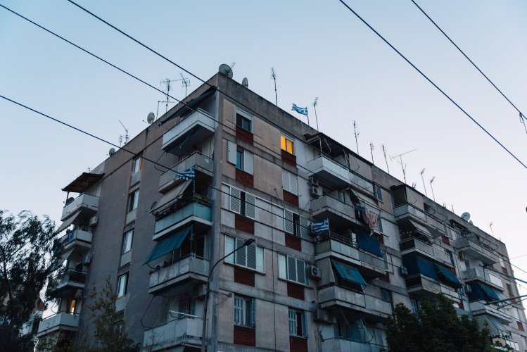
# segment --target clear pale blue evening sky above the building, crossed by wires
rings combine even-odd
[[[417,1],[502,89],[527,111],[527,3]],[[181,70],[148,53],[68,1],[0,0],[160,87]],[[407,154],[407,182],[424,193],[426,168],[438,203],[509,249],[527,271],[527,170],[500,149],[431,84],[360,23],[339,1],[80,1],[82,6],[146,42],[203,79],[221,63],[234,80],[274,101],[270,68],[277,71],[278,103],[310,106],[315,96],[319,128],[402,180],[390,156]],[[447,42],[409,0],[348,4],[467,112],[527,163],[527,134],[518,113]],[[189,75],[186,75],[189,77]],[[189,77],[191,86],[199,82]],[[173,95],[184,97],[181,84]],[[146,115],[163,96],[75,47],[0,8],[0,94],[60,118],[116,144],[147,125]],[[159,111],[164,112],[163,106]],[[301,115],[297,117],[302,118]],[[310,122],[315,125],[314,114]],[[99,165],[109,146],[0,99],[0,208],[30,209],[60,222],[61,188]],[[515,268],[516,275],[527,273]],[[527,284],[524,284],[527,287]],[[527,290],[523,290],[527,294]]]

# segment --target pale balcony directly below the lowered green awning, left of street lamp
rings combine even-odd
[[[208,260],[196,256],[183,258],[151,273],[148,294],[159,295],[162,292],[170,295],[173,293],[171,289],[180,288],[182,282],[207,282],[208,272]]]

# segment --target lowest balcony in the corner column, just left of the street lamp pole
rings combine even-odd
[[[147,351],[163,351],[175,346],[201,346],[201,318],[171,320],[144,332]],[[173,351],[171,349],[171,351]]]

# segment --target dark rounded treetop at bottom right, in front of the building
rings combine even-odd
[[[385,325],[390,352],[495,351],[488,329],[468,315],[459,317],[443,294],[437,303],[422,301],[417,313],[399,303]]]

